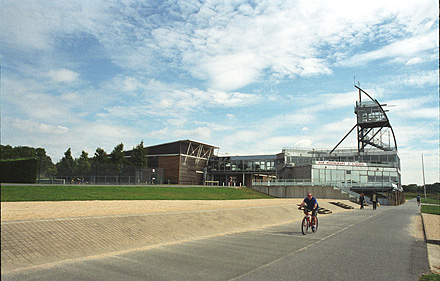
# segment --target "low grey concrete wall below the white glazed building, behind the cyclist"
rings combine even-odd
[[[252,186],[254,190],[277,198],[305,198],[311,192],[314,197],[321,199],[349,200],[348,193],[332,186]]]

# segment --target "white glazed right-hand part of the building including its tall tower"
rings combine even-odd
[[[359,90],[354,109],[357,122],[333,149],[284,148],[276,157],[277,179],[253,184],[332,186],[368,195],[372,192],[397,193],[389,200],[400,200],[399,194],[403,191],[400,158],[393,128],[384,109],[386,105],[379,104],[364,90],[356,88]],[[362,100],[363,96],[368,99]],[[338,149],[354,131],[357,132],[357,148]]]

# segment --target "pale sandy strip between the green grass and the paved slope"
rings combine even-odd
[[[2,202],[1,221],[35,220],[49,218],[88,217],[108,215],[130,215],[166,213],[194,210],[217,210],[299,204],[302,199],[258,199],[258,200],[134,200],[134,201],[58,201],[58,202]],[[333,212],[344,211],[328,202],[319,201],[320,207]]]

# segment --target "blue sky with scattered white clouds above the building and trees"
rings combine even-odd
[[[192,139],[219,155],[332,149],[360,85],[403,184],[439,181],[436,0],[0,0],[1,143],[54,162]],[[359,83],[359,84],[358,84]],[[357,147],[355,134],[340,147]]]

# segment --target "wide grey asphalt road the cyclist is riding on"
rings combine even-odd
[[[2,280],[418,280],[429,272],[415,202],[2,274]]]

